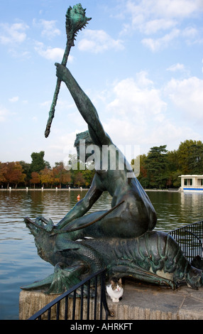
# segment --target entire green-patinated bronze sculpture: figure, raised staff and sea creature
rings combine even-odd
[[[55,65],[57,82],[65,82],[88,126],[88,131],[77,135],[75,147],[79,149],[79,139],[97,146],[101,158],[99,166],[103,166],[102,148],[108,146],[111,153],[115,149],[114,143],[104,131],[89,97],[65,67],[75,33],[88,20],[80,4],[67,11],[67,50],[62,64]],[[54,107],[55,102],[54,97]],[[54,107],[50,112],[46,134],[50,131]],[[116,166],[119,166],[120,159],[126,161],[119,151]],[[27,227],[35,237],[38,254],[53,264],[55,271],[43,281],[22,289],[62,293],[104,266],[107,276],[132,276],[145,282],[166,284],[172,289],[182,281],[192,288],[202,286],[202,271],[190,265],[177,242],[164,232],[153,231],[157,220],[155,210],[133,175],[131,165],[126,161],[124,168],[111,169],[110,161],[108,163],[105,170],[96,168],[87,194],[57,225],[44,217],[38,217],[35,221],[25,218]],[[89,213],[104,191],[111,195],[111,210]]]

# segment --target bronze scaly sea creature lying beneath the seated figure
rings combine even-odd
[[[148,231],[137,238],[84,238],[72,241],[69,232],[48,232],[43,217],[35,222],[25,218],[35,237],[39,256],[55,266],[54,274],[24,290],[62,293],[89,274],[106,267],[109,276],[128,277],[150,284],[176,289],[187,284],[193,289],[202,286],[202,270],[194,268],[182,254],[179,245],[168,233]]]

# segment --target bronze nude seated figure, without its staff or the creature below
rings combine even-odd
[[[77,109],[88,125],[89,131],[77,136],[77,149],[79,149],[79,139],[85,139],[88,144],[97,145],[100,151],[102,151],[102,146],[108,146],[111,155],[111,150],[114,150],[115,146],[104,131],[94,105],[79,87],[70,71],[60,64],[56,64],[56,67],[57,77],[67,85]],[[102,159],[102,152],[100,157]],[[87,195],[58,222],[57,226],[48,225],[48,230],[53,228],[55,232],[60,230],[62,232],[75,231],[70,233],[72,239],[79,237],[139,237],[146,231],[153,230],[156,223],[153,205],[133,173],[131,172],[130,178],[127,176],[127,173],[131,171],[131,165],[126,161],[124,169],[119,169],[119,159],[124,161],[121,152],[116,154],[116,170],[111,170],[110,159],[106,170],[101,170],[101,168],[96,170]],[[108,213],[100,211],[84,215],[104,191],[108,191],[112,196],[111,207],[115,209]],[[92,224],[94,220],[97,220],[96,224]]]

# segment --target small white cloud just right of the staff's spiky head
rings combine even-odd
[[[87,29],[84,38],[78,43],[79,50],[89,51],[92,53],[102,53],[109,49],[123,50],[124,45],[121,40],[114,40],[103,30]]]

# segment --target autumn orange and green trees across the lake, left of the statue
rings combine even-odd
[[[92,183],[94,171],[79,171],[70,168],[67,170],[64,164],[56,162],[51,168],[50,163],[44,160],[44,151],[31,154],[32,162],[12,161],[0,162],[1,188],[88,188]],[[70,157],[71,158],[71,157]]]

